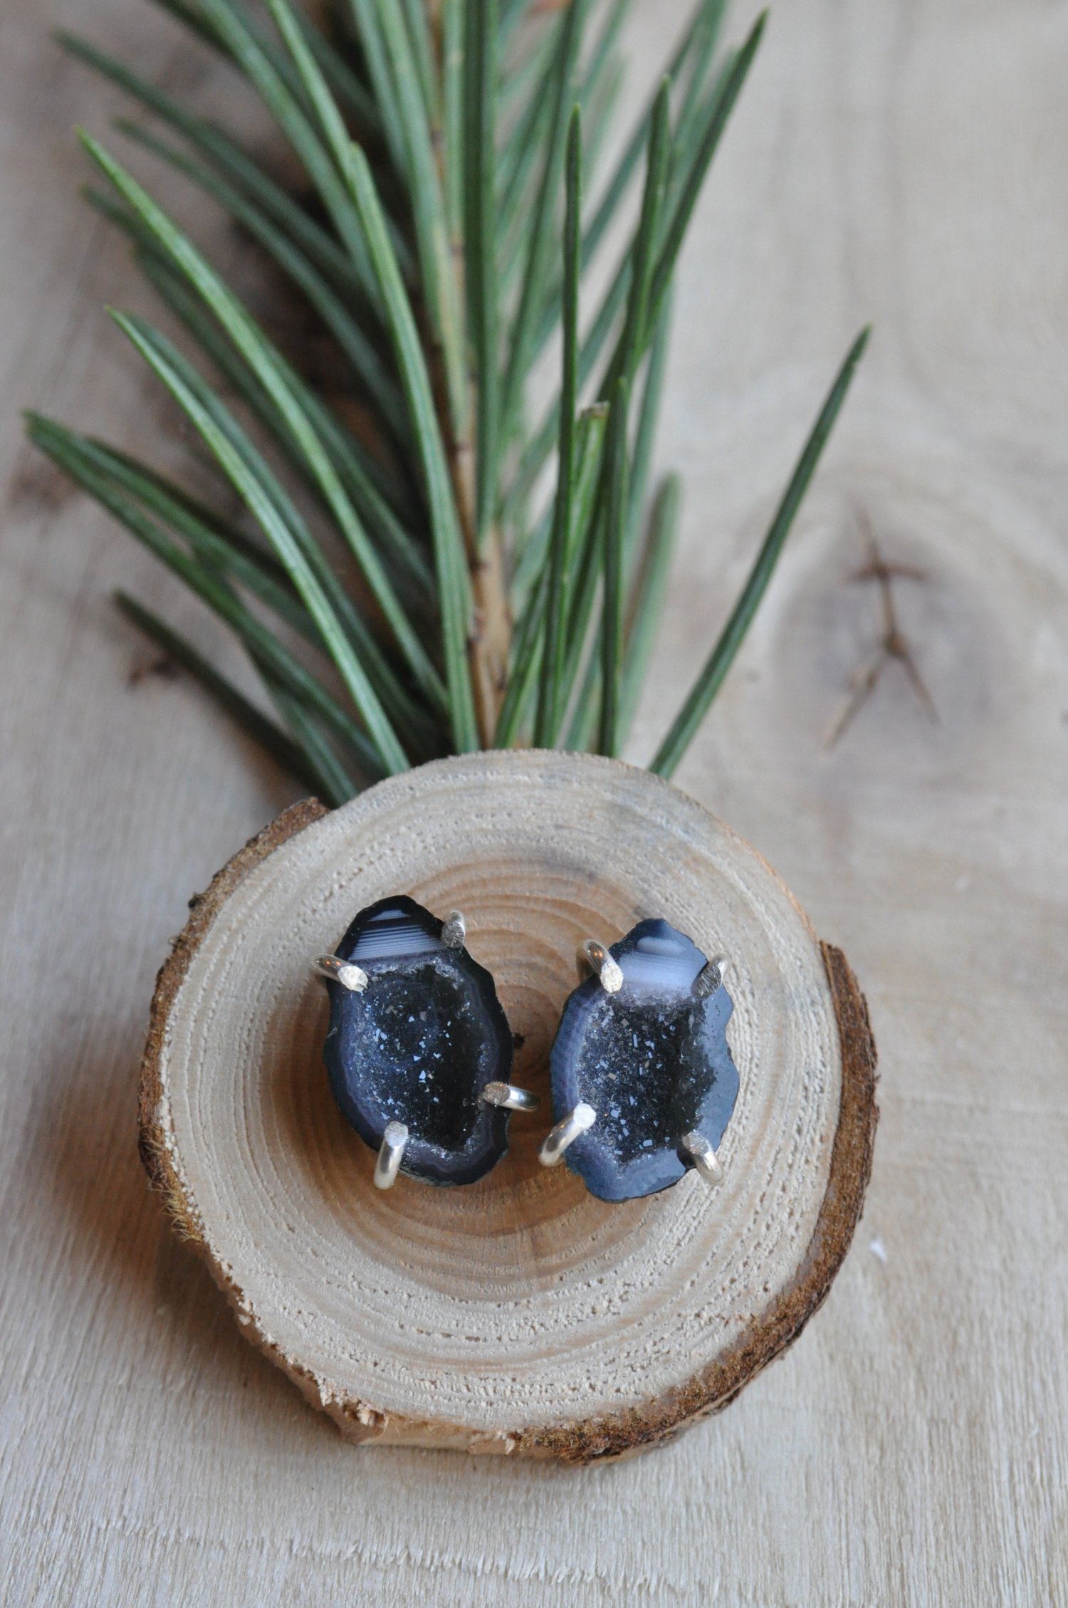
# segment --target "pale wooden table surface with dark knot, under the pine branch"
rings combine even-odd
[[[680,13],[640,0],[635,61]],[[187,897],[294,794],[153,672],[116,584],[209,645],[211,626],[18,434],[35,404],[172,452],[101,312],[142,293],[76,198],[71,125],[103,133],[119,103],[53,23],[172,87],[201,71],[140,0],[0,16],[5,1603],[1068,1602],[1068,8],[780,0],[701,201],[661,453],[685,474],[684,564],[634,757],[873,318],[679,781],[849,955],[883,1122],[796,1348],[721,1418],[594,1471],[346,1446],[146,1193],[154,971]],[[201,92],[227,100],[219,74]],[[883,632],[878,582],[854,579],[870,535],[918,571],[893,597],[934,714],[889,661],[827,745]]]

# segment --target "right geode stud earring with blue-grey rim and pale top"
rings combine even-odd
[[[666,1190],[695,1167],[722,1180],[716,1148],[738,1097],[724,962],[668,921],[639,921],[605,949],[565,1005],[552,1050],[557,1126],[540,1148],[603,1201]]]

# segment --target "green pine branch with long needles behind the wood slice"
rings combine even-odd
[[[346,397],[323,396],[301,354],[84,135],[111,187],[90,201],[132,240],[185,346],[143,318],[116,323],[254,534],[103,442],[40,415],[27,429],[225,621],[280,724],[124,597],[125,616],[330,802],[447,749],[532,740],[619,753],[655,662],[677,527],[672,476],[645,507],[671,283],[764,18],[717,55],[724,0],[700,0],[598,175],[627,0],[338,0],[327,29],[301,0],[159,3],[259,95],[299,164],[299,191],[240,130],[95,45],[60,40],[158,121],[161,132],[119,122],[137,151],[285,277],[372,428],[354,433]],[[587,307],[587,273],[642,169],[637,222]],[[557,330],[558,389],[531,425],[531,373]],[[864,341],[659,745],[664,775],[748,630]]]

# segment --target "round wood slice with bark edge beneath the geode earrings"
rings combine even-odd
[[[309,958],[364,905],[462,909],[542,1111],[479,1183],[372,1185],[322,1063]],[[537,1147],[576,946],[663,915],[730,958],[741,1089],[721,1159],[610,1206]],[[449,759],[286,810],[193,902],[159,974],[142,1153],[244,1333],[354,1441],[571,1462],[724,1407],[849,1246],[875,1050],[843,955],[766,862],[664,781],[558,753]]]

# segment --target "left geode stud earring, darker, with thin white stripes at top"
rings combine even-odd
[[[465,936],[458,910],[439,921],[397,894],[360,910],[314,963],[330,991],[330,1087],[378,1151],[381,1190],[397,1172],[474,1183],[508,1148],[508,1113],[539,1103],[508,1082],[511,1031]]]

